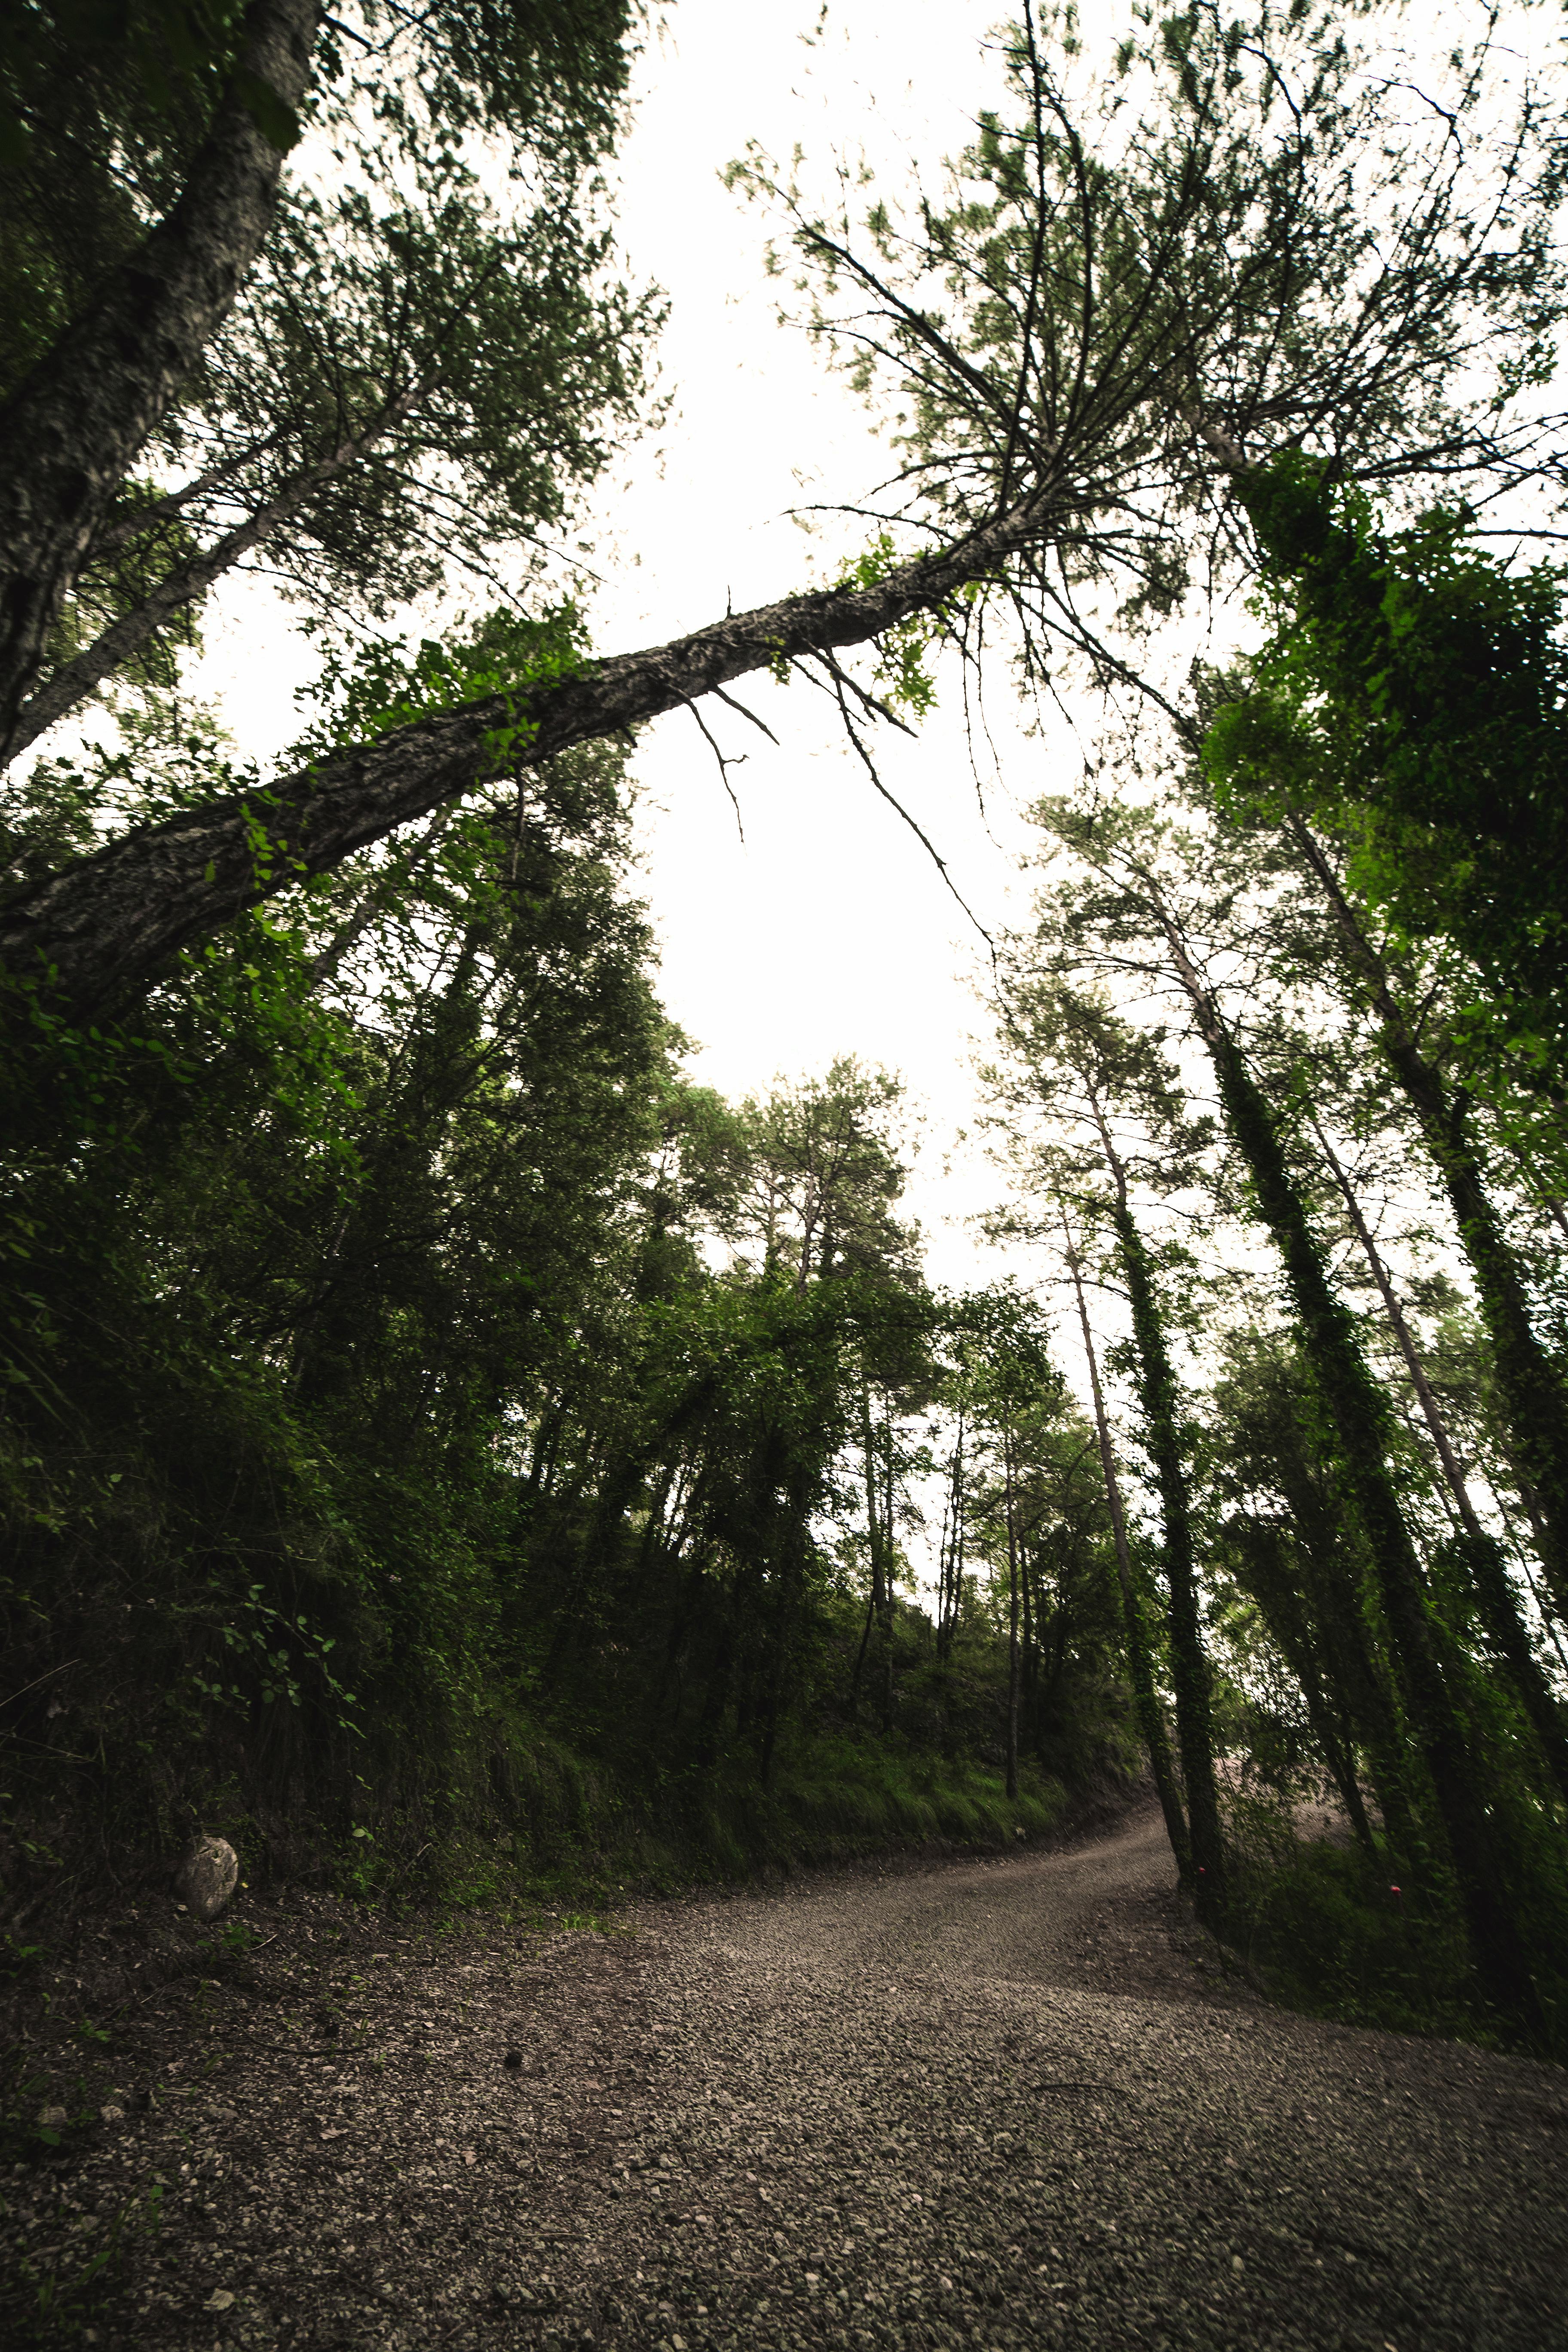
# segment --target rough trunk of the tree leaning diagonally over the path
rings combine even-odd
[[[92,1018],[233,915],[327,873],[477,783],[679,710],[748,670],[783,670],[811,654],[865,644],[910,614],[940,607],[1039,541],[1056,503],[1039,489],[957,546],[870,588],[820,588],[726,614],[670,644],[442,710],[273,786],[125,833],[0,910],[0,962],[12,978],[49,981],[61,1011]]]

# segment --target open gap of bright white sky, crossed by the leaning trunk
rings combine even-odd
[[[788,508],[853,501],[886,470],[860,400],[823,369],[799,332],[776,322],[764,275],[769,221],[722,186],[748,139],[788,158],[799,143],[823,183],[835,148],[863,148],[903,179],[905,155],[964,146],[994,89],[980,54],[992,0],[839,0],[820,42],[811,0],[733,9],[679,0],[639,75],[637,127],[623,151],[623,247],[632,273],[670,294],[663,341],[677,414],[663,463],[630,473],[614,513],[639,557],[611,579],[597,614],[604,647],[658,642],[736,607],[766,602],[832,560],[830,527],[809,541]],[[804,38],[806,35],[806,38]],[[870,527],[851,527],[851,541]],[[766,743],[722,706],[705,720],[726,753],[745,842],[693,717],[649,729],[637,779],[646,884],[663,941],[663,995],[701,1042],[696,1075],[726,1094],[773,1073],[825,1068],[835,1054],[900,1070],[929,1108],[912,1207],[931,1270],[959,1279],[971,1249],[954,1216],[994,1192],[990,1171],[940,1178],[969,1115],[966,988],[980,946],[926,851],[870,786],[837,713],[806,687],[748,680],[733,689],[778,736]],[[1004,699],[1006,703],[1006,699]],[[980,818],[959,713],[940,708],[917,743],[877,746],[891,790],[947,858],[983,922],[1001,917],[1020,842],[1009,795]],[[1041,748],[1011,776],[1023,802],[1048,786]]]

